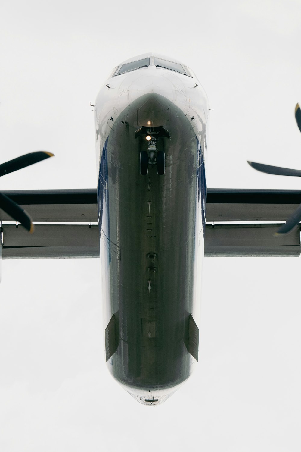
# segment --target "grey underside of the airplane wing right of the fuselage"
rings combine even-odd
[[[300,226],[273,234],[300,202],[298,190],[208,189],[205,256],[299,256]]]

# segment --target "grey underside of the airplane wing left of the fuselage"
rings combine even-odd
[[[2,193],[35,223],[34,234],[28,234],[16,223],[6,224],[13,220],[0,209],[3,259],[99,257],[96,189]]]

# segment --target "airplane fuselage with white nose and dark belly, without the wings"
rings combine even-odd
[[[95,102],[106,359],[144,405],[198,359],[207,119],[192,71],[153,54],[116,67]]]

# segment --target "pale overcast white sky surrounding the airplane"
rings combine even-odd
[[[0,160],[56,154],[1,189],[96,187],[89,102],[148,51],[207,91],[208,187],[301,188],[245,163],[301,169],[300,0],[17,0],[0,17]],[[107,372],[98,259],[2,267],[1,452],[300,452],[300,259],[204,260],[198,369],[154,409]]]

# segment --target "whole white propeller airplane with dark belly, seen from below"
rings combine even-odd
[[[301,192],[207,189],[208,97],[180,61],[130,58],[91,105],[97,189],[2,192],[1,257],[100,256],[107,367],[135,400],[156,406],[199,358],[203,257],[299,256],[300,217],[278,237],[271,221],[285,221]],[[10,160],[0,176],[52,156]]]

